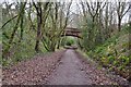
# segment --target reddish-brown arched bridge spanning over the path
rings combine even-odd
[[[81,38],[81,32],[78,28],[67,27],[61,36],[73,36]]]

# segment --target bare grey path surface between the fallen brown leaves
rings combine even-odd
[[[82,63],[74,50],[67,50],[60,65],[48,78],[48,85],[91,85],[86,73],[81,71]]]

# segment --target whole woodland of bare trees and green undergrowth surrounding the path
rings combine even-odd
[[[69,46],[76,47],[108,71],[131,79],[130,1],[5,0],[0,9],[3,69]],[[66,36],[66,28],[71,24],[81,32],[81,38]]]

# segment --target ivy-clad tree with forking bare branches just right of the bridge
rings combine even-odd
[[[98,40],[102,41],[102,13],[103,9],[105,8],[105,2],[92,2],[92,1],[86,1],[86,2],[81,2],[82,4],[82,10],[83,10],[83,15],[85,20],[85,27],[87,36],[83,36],[87,38],[87,46],[88,49],[93,49],[97,44]],[[85,33],[85,32],[84,32]],[[85,39],[84,39],[85,40]],[[92,45],[92,46],[91,46]]]

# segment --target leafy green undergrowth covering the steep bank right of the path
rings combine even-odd
[[[87,54],[94,60],[98,61],[103,66],[110,71],[116,71],[128,77],[129,74],[129,40],[126,27],[111,38],[107,39],[105,44],[97,46],[95,50],[91,50]]]

